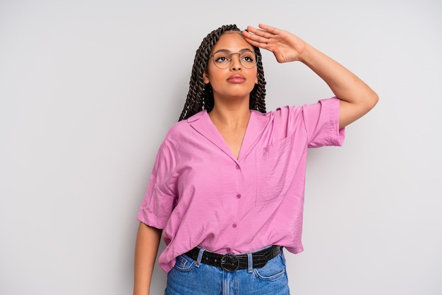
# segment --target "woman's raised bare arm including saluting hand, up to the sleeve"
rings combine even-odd
[[[378,95],[337,61],[285,30],[259,25],[242,34],[251,45],[270,50],[280,63],[301,61],[328,84],[340,101],[339,126],[343,128],[364,116],[378,102]]]

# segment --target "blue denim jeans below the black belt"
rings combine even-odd
[[[250,264],[250,263],[249,263]],[[227,272],[186,255],[167,275],[165,295],[289,295],[285,258],[280,253],[261,268]]]

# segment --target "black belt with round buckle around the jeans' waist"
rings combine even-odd
[[[280,253],[281,246],[271,246],[265,248],[261,251],[253,252],[253,268],[263,267],[268,260],[275,258],[278,253]],[[188,255],[193,260],[198,260],[198,254],[200,253],[200,248],[193,248],[191,251],[187,252]],[[249,259],[247,254],[217,254],[210,251],[203,252],[203,258],[201,258],[201,263],[212,265],[216,267],[221,267],[227,272],[233,272],[234,270],[246,270],[249,268]]]

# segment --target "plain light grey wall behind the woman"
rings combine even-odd
[[[309,152],[292,294],[442,294],[441,2],[159,2],[0,1],[0,294],[131,294],[157,148],[229,23],[294,32],[381,98],[342,148]],[[269,110],[332,96],[263,63]]]

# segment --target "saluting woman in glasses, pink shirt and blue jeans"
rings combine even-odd
[[[265,113],[259,48],[306,64],[336,97]],[[282,248],[303,250],[306,150],[342,145],[345,126],[377,101],[357,76],[285,30],[210,32],[138,213],[133,294],[148,294],[161,234],[166,294],[289,294]]]

